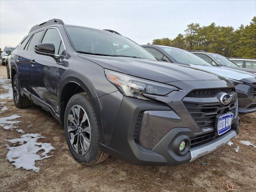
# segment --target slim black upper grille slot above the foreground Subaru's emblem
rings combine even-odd
[[[221,89],[200,89],[190,92],[186,97],[207,97],[212,96],[216,92],[225,92],[230,94],[234,92],[234,88],[221,88]]]

